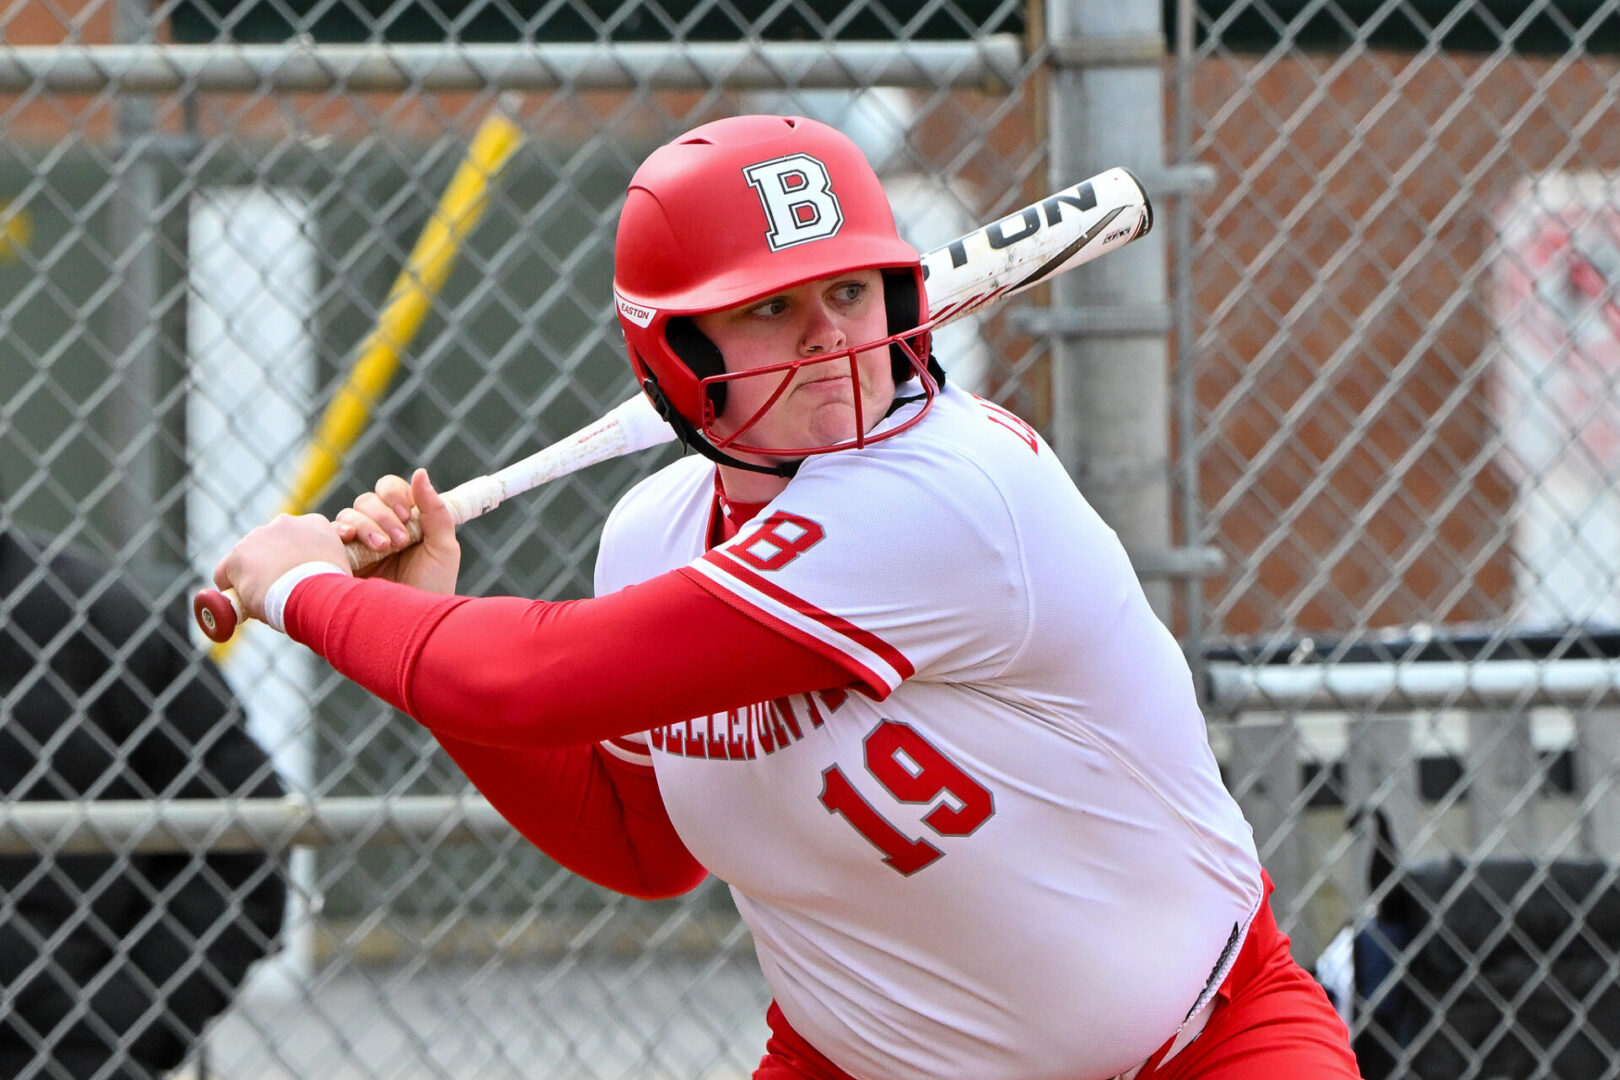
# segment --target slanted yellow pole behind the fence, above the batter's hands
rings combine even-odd
[[[382,398],[400,353],[410,347],[421,321],[450,275],[455,256],[489,206],[489,189],[496,175],[523,142],[523,131],[497,107],[478,126],[467,157],[450,176],[433,217],[423,225],[416,246],[394,279],[376,325],[360,343],[348,377],[337,389],[309,444],[305,447],[298,473],[282,504],[282,513],[306,513],[337,476],[343,457],[355,445],[371,419],[371,408]],[[214,659],[224,661],[233,641],[214,646]]]

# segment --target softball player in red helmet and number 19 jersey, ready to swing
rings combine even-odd
[[[854,144],[739,117],[656,151],[614,293],[698,455],[614,508],[596,599],[454,596],[420,470],[215,581],[564,865],[723,878],[774,994],[760,1078],[1354,1077],[1176,641],[1042,437],[932,363]],[[400,554],[352,578],[356,538]]]

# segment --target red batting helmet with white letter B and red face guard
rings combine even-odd
[[[888,338],[747,377],[778,376],[786,389],[805,363],[854,363],[855,353],[889,345],[896,384],[917,376],[927,400],[907,424],[878,436],[886,439],[922,418],[940,372],[930,371],[928,335],[919,330],[928,316],[922,259],[894,228],[872,165],[849,138],[802,117],[732,117],[693,128],[642,164],[619,217],[614,304],[630,368],[682,439],[729,465],[791,474],[792,465],[753,466],[721,450],[799,457],[867,445],[875,439],[865,431],[838,445],[792,450],[739,442],[760,416],[716,440],[710,426],[726,408],[726,369],[692,316],[873,269],[883,272]]]

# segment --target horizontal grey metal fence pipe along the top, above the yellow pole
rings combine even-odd
[[[0,92],[399,92],[844,89],[1008,92],[1013,34],[970,42],[666,42],[622,45],[21,45],[0,49]],[[859,83],[857,83],[859,79]]]

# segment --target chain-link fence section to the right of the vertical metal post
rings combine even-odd
[[[1615,8],[1189,16],[1192,625],[1273,902],[1366,1075],[1615,1075]]]

